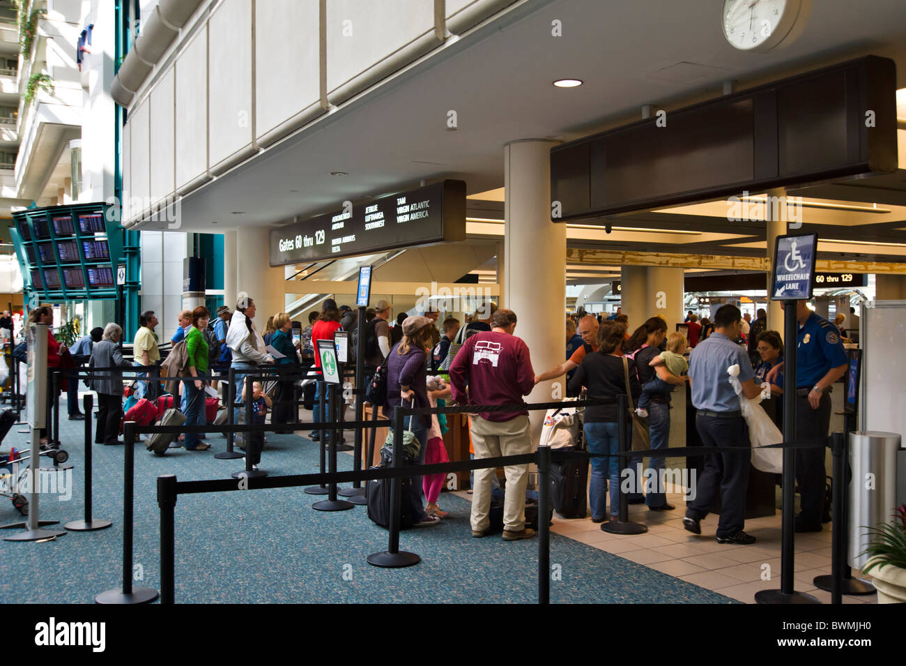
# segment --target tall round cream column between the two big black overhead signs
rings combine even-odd
[[[521,140],[504,147],[506,291],[502,300],[519,318],[516,336],[528,345],[535,374],[564,360],[560,314],[566,306],[566,227],[551,221],[550,150],[554,145],[556,141]],[[561,382],[559,394],[564,396],[564,380],[556,381]],[[527,400],[550,401],[552,392],[552,382],[545,381]],[[541,434],[544,417],[543,411],[530,412],[533,442]]]

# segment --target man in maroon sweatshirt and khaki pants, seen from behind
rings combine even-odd
[[[450,389],[459,404],[525,404],[522,400],[535,387],[535,371],[528,346],[513,331],[516,314],[497,310],[491,330],[469,337],[450,366]],[[528,411],[480,411],[469,417],[476,458],[496,458],[531,453]],[[504,540],[535,536],[525,527],[525,485],[528,465],[510,465],[506,471]],[[491,479],[495,468],[475,470],[472,494],[472,536],[485,536],[490,520]]]

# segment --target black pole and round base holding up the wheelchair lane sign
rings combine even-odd
[[[784,340],[786,341],[786,362],[784,368],[784,441],[795,440],[795,339],[796,339],[796,304],[795,301],[786,301],[784,307]],[[755,594],[757,603],[821,603],[814,596],[795,592],[793,589],[794,574],[794,540],[795,525],[795,449],[784,449],[783,473],[783,514],[782,514],[782,540],[780,546],[780,589],[762,590]]]

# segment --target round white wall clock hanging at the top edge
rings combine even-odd
[[[795,0],[724,0],[724,36],[741,51],[767,51],[784,41],[798,14]]]

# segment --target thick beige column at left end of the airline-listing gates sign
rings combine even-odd
[[[286,306],[284,269],[270,266],[270,239],[261,227],[236,229],[236,249],[236,294],[245,292],[255,301],[255,326],[260,332],[267,318]],[[236,299],[229,305],[235,308]]]

